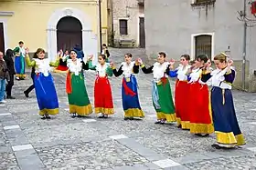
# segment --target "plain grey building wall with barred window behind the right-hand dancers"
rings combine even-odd
[[[250,2],[246,2],[246,17],[256,21]],[[157,52],[165,51],[169,58],[178,60],[183,54],[213,58],[229,52],[237,70],[234,86],[255,92],[256,27],[247,22],[246,65],[242,69],[244,22],[238,19],[238,11],[243,11],[243,6],[242,0],[146,0],[146,53],[155,57]]]

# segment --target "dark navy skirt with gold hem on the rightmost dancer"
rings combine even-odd
[[[217,142],[222,145],[244,145],[231,91],[214,86],[211,89],[211,108]]]

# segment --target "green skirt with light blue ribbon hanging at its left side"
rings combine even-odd
[[[159,83],[154,82],[153,105],[158,120],[164,119],[166,122],[176,122],[173,95],[167,78],[162,78]]]

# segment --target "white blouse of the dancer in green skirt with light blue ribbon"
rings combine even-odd
[[[160,82],[160,79],[163,77],[168,77],[168,75],[165,74],[165,71],[168,67],[169,63],[165,62],[163,64],[160,64],[158,62],[155,62],[153,67],[153,75],[155,82]]]

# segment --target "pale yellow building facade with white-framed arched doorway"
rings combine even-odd
[[[107,19],[104,0],[101,2],[102,43],[108,40]],[[59,49],[70,50],[76,44],[82,46],[85,54],[97,56],[101,46],[99,30],[98,1],[2,0],[0,3],[2,51],[24,41],[31,53],[42,47],[51,60],[55,60]]]

